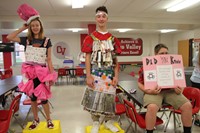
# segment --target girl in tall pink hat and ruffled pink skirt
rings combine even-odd
[[[42,101],[46,114],[47,127],[54,128],[50,118],[48,99],[51,97],[50,86],[57,79],[51,61],[51,41],[44,37],[44,29],[38,12],[27,4],[22,4],[17,10],[20,18],[26,21],[21,28],[7,36],[10,41],[25,46],[26,61],[22,64],[23,81],[18,85],[20,91],[31,98],[33,123],[29,129],[35,129],[39,124],[37,99]],[[28,29],[26,37],[18,35]]]

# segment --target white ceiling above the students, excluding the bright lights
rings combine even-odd
[[[160,29],[178,32],[200,28],[200,3],[178,12],[166,12],[175,0],[86,0],[82,9],[72,9],[71,0],[0,0],[0,34],[8,34],[24,22],[17,8],[27,3],[35,8],[44,23],[46,34],[71,34],[68,28],[84,28],[95,23],[95,9],[108,8],[110,32],[118,28],[135,29],[128,33],[159,33]],[[177,33],[177,32],[175,32]]]

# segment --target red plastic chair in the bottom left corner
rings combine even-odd
[[[0,110],[0,133],[9,131],[12,116],[19,110],[21,96],[22,94],[19,94],[12,100],[9,110]]]

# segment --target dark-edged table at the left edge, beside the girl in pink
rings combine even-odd
[[[0,80],[0,99],[3,98],[2,105],[5,105],[4,96],[9,92],[16,90],[18,88],[18,84],[22,81],[22,76],[12,76],[7,79]]]

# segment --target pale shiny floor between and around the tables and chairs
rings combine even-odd
[[[82,95],[84,92],[84,86],[79,85],[57,85],[52,87],[53,97],[50,99],[53,108],[51,109],[51,116],[54,120],[60,120],[62,133],[85,133],[85,127],[92,124],[90,114],[82,109],[80,104]],[[25,96],[22,97],[22,100]],[[29,109],[29,106],[20,106],[19,116],[20,121],[23,121],[25,115]],[[161,114],[158,114],[161,115]],[[165,118],[165,117],[164,117]],[[32,121],[32,114],[29,117],[29,121]],[[40,115],[40,119],[44,118]],[[166,119],[165,119],[166,121]],[[165,124],[158,126],[156,133],[163,132]],[[126,130],[128,121],[125,116],[122,117],[122,129]],[[21,133],[22,129],[17,125],[13,119],[11,122],[11,129],[14,129],[16,133]],[[173,133],[173,121],[171,120],[167,128],[167,133]],[[130,129],[128,133],[133,133]],[[144,130],[139,129],[138,133],[143,133]],[[182,132],[182,127],[177,128],[177,132]],[[200,127],[193,126],[193,133],[199,133]]]

